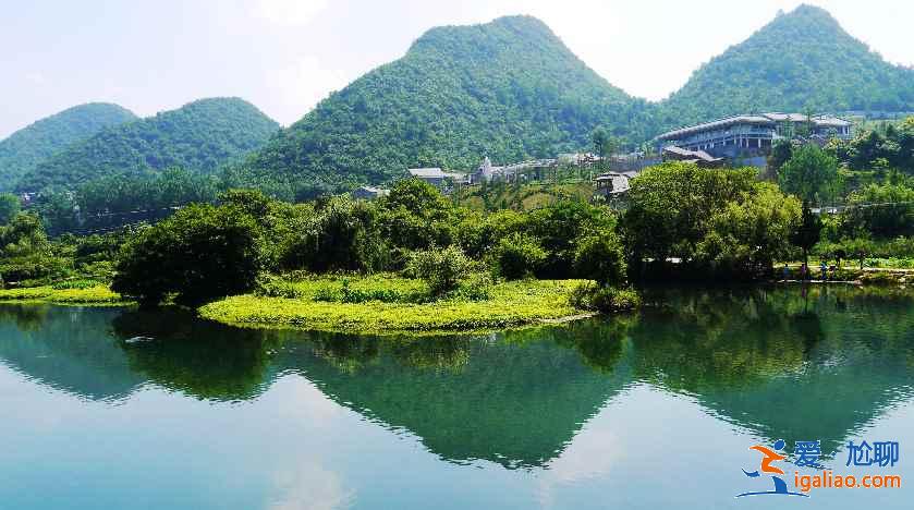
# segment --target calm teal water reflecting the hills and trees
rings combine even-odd
[[[0,508],[912,508],[914,293],[663,301],[412,340],[0,305]],[[902,488],[734,499],[779,438]],[[899,462],[845,466],[849,440]]]

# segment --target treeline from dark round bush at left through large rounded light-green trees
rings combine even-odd
[[[574,199],[485,214],[417,180],[376,202],[290,204],[236,190],[118,240],[113,288],[146,302],[202,301],[251,291],[264,274],[412,270],[447,292],[467,264],[502,279],[594,280],[594,292],[670,271],[752,279],[795,253],[803,218],[796,198],[752,169],[688,163],[647,169],[624,214]]]

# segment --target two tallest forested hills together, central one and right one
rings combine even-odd
[[[540,21],[428,31],[406,54],[320,102],[246,162],[254,181],[317,189],[406,168],[472,169],[588,150],[596,126],[630,142],[755,111],[914,110],[914,71],[885,62],[825,10],[801,5],[711,59],[670,98],[626,95]]]

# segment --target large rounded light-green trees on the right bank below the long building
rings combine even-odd
[[[795,250],[791,240],[801,240],[804,224],[800,201],[758,182],[753,169],[648,168],[632,181],[629,204],[625,247],[632,272],[643,277],[767,276]]]

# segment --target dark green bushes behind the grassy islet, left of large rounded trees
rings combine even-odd
[[[186,301],[257,290],[296,296],[264,272],[402,270],[431,299],[482,300],[489,274],[504,279],[593,278],[622,283],[617,218],[585,202],[491,215],[454,205],[417,180],[378,202],[332,196],[292,205],[231,191],[218,205],[193,205],[138,231],[122,250],[112,288],[145,302]],[[343,289],[325,301],[399,300]]]

